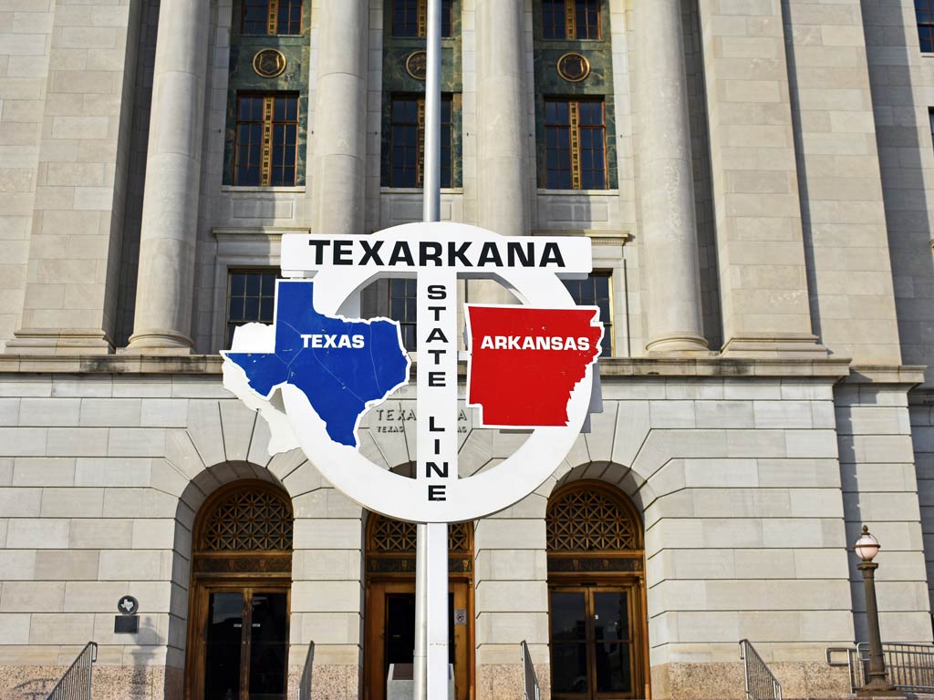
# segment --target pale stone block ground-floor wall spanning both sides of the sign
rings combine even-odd
[[[178,373],[197,363],[206,373]],[[45,687],[94,639],[108,688],[123,697],[176,696],[194,514],[220,484],[261,478],[285,487],[295,511],[292,682],[313,640],[316,687],[356,697],[361,509],[297,451],[265,454],[268,429],[223,390],[211,369],[216,360],[154,364],[174,373],[78,375],[63,365],[62,372],[3,374],[4,677],[21,691]],[[740,697],[736,643],[743,637],[772,665],[786,695],[844,692],[845,679],[823,663],[823,651],[862,635],[848,546],[864,520],[883,539],[885,636],[927,638],[903,389],[865,380],[835,388],[846,371],[839,362],[785,363],[785,374],[759,377],[752,365],[734,364],[729,372],[745,376],[729,378],[710,361],[667,365],[662,376],[644,374],[661,365],[644,364],[604,367],[603,412],[562,467],[530,497],[474,525],[478,700],[519,697],[522,639],[547,687],[545,507],[555,488],[576,479],[615,485],[642,513],[656,697]],[[763,365],[757,371],[769,374]],[[391,421],[371,412],[362,427],[364,452],[388,467],[411,459],[415,421],[403,420],[401,432],[381,427],[408,416],[413,398],[403,389],[385,408],[396,412]],[[913,413],[915,423],[926,416]],[[524,440],[476,429],[468,416],[462,427],[465,474],[494,468]],[[927,503],[923,482],[920,490]],[[112,633],[116,600],[126,593],[139,599],[142,615],[140,634],[129,638]]]

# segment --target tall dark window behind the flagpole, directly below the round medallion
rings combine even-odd
[[[425,162],[425,98],[393,97],[391,106],[389,187],[420,188]],[[452,100],[441,98],[441,187],[454,179],[452,150]]]

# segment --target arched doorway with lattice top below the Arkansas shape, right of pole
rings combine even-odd
[[[650,697],[643,526],[600,482],[548,500],[548,613],[554,700]]]

